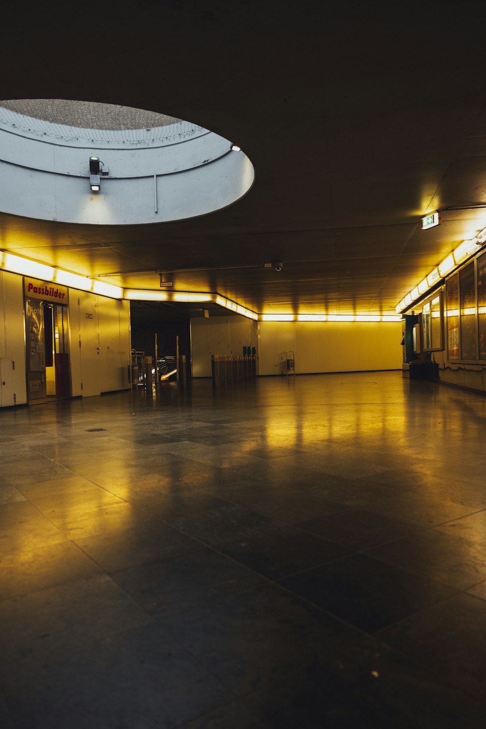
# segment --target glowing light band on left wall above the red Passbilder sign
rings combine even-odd
[[[32,278],[40,278],[43,281],[53,281],[62,286],[70,286],[73,289],[81,291],[90,291],[102,296],[109,296],[113,299],[123,298],[123,289],[112,284],[105,284],[104,281],[93,281],[87,276],[78,276],[77,273],[70,273],[61,268],[44,265],[31,261],[28,258],[15,256],[12,253],[0,252],[0,268],[11,271],[12,273],[20,273],[22,276],[32,276]]]

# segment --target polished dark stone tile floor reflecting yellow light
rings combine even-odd
[[[2,729],[483,727],[485,424],[400,373],[1,410]]]

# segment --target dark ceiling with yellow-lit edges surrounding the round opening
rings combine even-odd
[[[172,271],[174,289],[258,312],[394,313],[486,225],[483,1],[67,7],[2,4],[0,99],[187,119],[239,144],[256,182],[229,208],[160,225],[1,214],[1,249],[136,288]],[[442,225],[420,230],[437,208]]]

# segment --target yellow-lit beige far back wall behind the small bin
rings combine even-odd
[[[259,321],[258,373],[285,372],[286,351],[297,374],[401,369],[401,322]]]

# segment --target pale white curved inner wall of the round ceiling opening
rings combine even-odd
[[[92,156],[101,160],[99,192],[90,188]],[[227,207],[253,182],[243,152],[191,122],[109,104],[0,101],[5,213],[93,225],[165,222]]]

